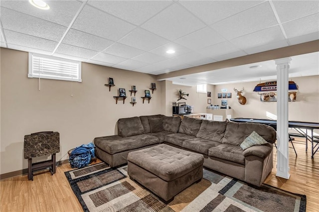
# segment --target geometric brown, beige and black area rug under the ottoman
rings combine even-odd
[[[168,205],[130,180],[127,166],[99,163],[65,172],[85,212],[305,212],[306,196],[268,185],[259,189],[204,169],[203,179]]]

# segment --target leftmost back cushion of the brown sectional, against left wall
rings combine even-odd
[[[143,134],[144,128],[140,117],[120,118],[118,120],[118,135],[128,137]]]

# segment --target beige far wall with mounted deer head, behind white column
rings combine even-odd
[[[289,102],[289,120],[319,122],[319,76],[296,77],[293,80],[299,86],[296,102]],[[217,98],[217,93],[222,93],[221,89],[227,89],[232,93],[231,99],[226,99],[228,105],[233,108],[234,117],[267,118],[266,112],[277,114],[276,102],[261,102],[260,96],[253,92],[254,87],[259,82],[236,83],[226,85],[216,85],[214,94],[214,105],[221,105],[221,99]],[[240,105],[237,101],[234,88],[240,90],[245,88],[244,97],[247,99],[246,105]]]

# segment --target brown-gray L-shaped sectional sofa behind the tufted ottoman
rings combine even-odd
[[[245,150],[240,144],[253,131],[268,143]],[[118,135],[94,139],[96,155],[111,167],[127,163],[129,152],[165,143],[201,153],[204,167],[260,186],[273,168],[276,131],[257,123],[209,121],[150,115],[121,118]]]

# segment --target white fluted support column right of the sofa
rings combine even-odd
[[[277,65],[277,174],[285,179],[289,174],[288,135],[288,70],[291,58],[275,60]]]

